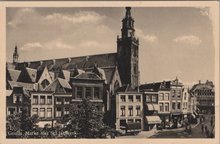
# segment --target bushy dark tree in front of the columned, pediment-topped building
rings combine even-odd
[[[100,137],[103,130],[103,113],[98,111],[89,99],[83,99],[79,105],[70,108],[71,130],[82,138]]]

